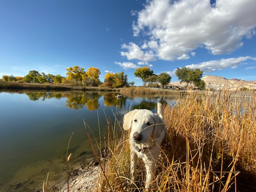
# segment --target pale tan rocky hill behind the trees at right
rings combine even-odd
[[[206,88],[222,89],[224,86],[231,90],[240,90],[240,88],[248,88],[249,90],[256,89],[256,81],[244,81],[241,79],[226,79],[224,77],[206,75],[202,78],[206,83]],[[175,86],[186,86],[186,84],[180,84],[180,82],[171,82]]]

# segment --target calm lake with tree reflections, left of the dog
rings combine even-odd
[[[94,155],[84,122],[99,141],[99,134],[107,137],[107,122],[114,123],[115,116],[122,126],[129,107],[154,111],[156,102],[176,102],[176,95],[123,94],[122,99],[115,98],[116,95],[75,91],[0,92],[0,191],[40,191],[48,174],[53,186],[64,180],[66,150],[73,132],[68,151],[72,153],[70,166],[72,169],[86,166]]]

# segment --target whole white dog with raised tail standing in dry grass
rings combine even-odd
[[[152,188],[156,174],[159,147],[166,136],[164,108],[157,103],[157,114],[147,109],[139,109],[124,115],[124,130],[130,132],[131,180],[136,181],[138,157],[142,158],[146,167],[146,191]]]

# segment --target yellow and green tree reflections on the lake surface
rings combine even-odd
[[[122,98],[118,99],[115,96],[117,93],[113,92],[26,92],[30,100],[36,101],[41,99],[42,101],[46,99],[56,98],[66,98],[66,106],[74,110],[82,109],[86,107],[88,110],[98,110],[100,104],[100,98],[103,98],[103,103],[107,107],[127,107],[127,100],[134,100],[136,98],[142,98],[139,103],[134,103],[132,108],[134,109],[154,109],[156,107],[156,102],[165,102],[166,97],[162,95],[136,95],[136,94],[122,94]],[[170,98],[170,96],[168,96]],[[164,99],[165,98],[165,99]],[[172,98],[172,97],[171,97]],[[128,106],[130,107],[130,106]]]

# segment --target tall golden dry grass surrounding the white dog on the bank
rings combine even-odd
[[[153,191],[255,191],[256,96],[241,108],[228,90],[212,96],[189,94],[165,106],[168,129]],[[109,120],[108,120],[109,121]],[[144,165],[138,166],[137,189],[131,189],[128,132],[117,140],[117,121],[109,124],[108,157],[102,164],[98,191],[142,191]]]

